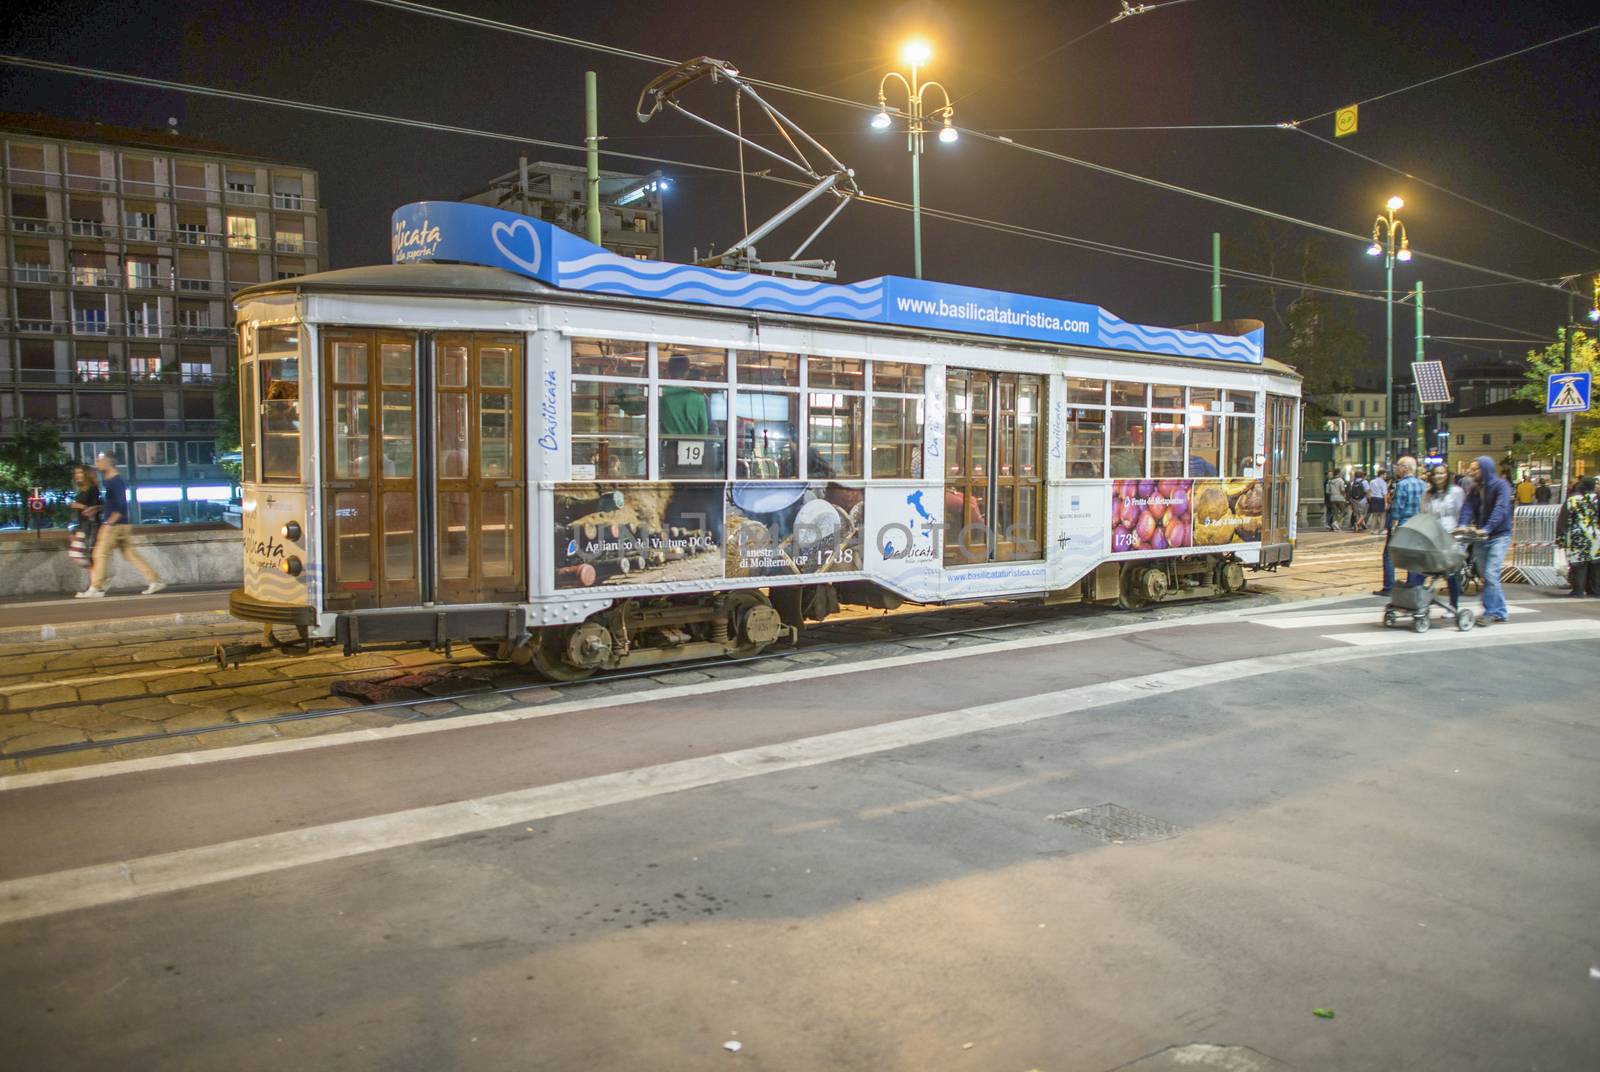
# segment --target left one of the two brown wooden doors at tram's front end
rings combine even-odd
[[[418,603],[416,336],[322,334],[330,610]]]

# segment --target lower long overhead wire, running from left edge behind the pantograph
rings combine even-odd
[[[562,141],[552,141],[552,139],[546,139],[546,138],[526,138],[526,136],[522,136],[522,134],[509,134],[509,133],[502,133],[502,131],[491,131],[491,130],[483,130],[483,128],[475,128],[475,126],[461,126],[461,125],[453,125],[453,123],[437,123],[437,122],[432,122],[432,120],[418,120],[418,118],[408,118],[408,117],[400,117],[400,115],[386,115],[386,114],[381,114],[381,112],[366,112],[366,110],[360,110],[360,109],[347,109],[347,107],[339,107],[339,106],[331,106],[331,104],[314,104],[314,102],[309,102],[309,101],[294,101],[294,99],[288,99],[288,98],[275,98],[275,96],[266,96],[266,94],[258,94],[258,93],[245,93],[245,91],[240,91],[240,90],[222,90],[222,88],[218,88],[218,86],[205,86],[205,85],[195,85],[195,83],[187,83],[187,82],[173,82],[173,80],[168,80],[168,78],[150,78],[147,75],[133,75],[133,74],[123,74],[123,72],[114,72],[114,70],[101,70],[101,69],[96,69],[96,67],[82,67],[82,66],[77,66],[77,64],[61,64],[61,62],[48,61],[48,59],[34,59],[34,58],[29,58],[29,56],[0,54],[0,66],[16,66],[16,67],[26,67],[26,69],[34,69],[34,70],[45,70],[45,72],[51,72],[51,74],[64,74],[64,75],[74,75],[74,77],[82,77],[82,78],[94,78],[94,80],[102,80],[102,82],[117,82],[117,83],[126,83],[126,85],[138,85],[138,86],[146,86],[146,88],[154,88],[154,90],[163,90],[163,91],[170,91],[170,93],[192,93],[192,94],[197,94],[197,96],[210,96],[210,98],[227,99],[227,101],[245,102],[245,104],[262,104],[262,106],[270,106],[270,107],[285,107],[285,109],[293,109],[293,110],[301,110],[301,112],[333,115],[333,117],[339,117],[339,118],[354,118],[354,120],[387,123],[387,125],[395,125],[395,126],[406,126],[406,128],[411,128],[411,130],[426,130],[426,131],[432,131],[432,133],[462,134],[462,136],[470,136],[470,138],[488,138],[488,139],[494,139],[494,141],[506,141],[506,142],[515,142],[515,144],[541,146],[541,147],[546,147],[546,149],[562,149],[562,150],[568,150],[568,152],[586,152],[584,146],[574,144],[574,142],[562,142]],[[618,150],[618,149],[600,149],[598,152],[602,155],[616,157],[616,158],[621,158],[621,160],[637,160],[637,162],[653,163],[653,165],[667,165],[667,166],[686,168],[686,170],[693,170],[693,171],[702,171],[702,173],[707,173],[707,174],[741,176],[741,178],[750,176],[750,178],[760,178],[763,181],[779,182],[782,186],[795,186],[795,187],[808,187],[810,186],[810,184],[800,182],[797,179],[774,176],[774,174],[763,173],[763,171],[747,173],[747,171],[736,170],[736,168],[726,168],[726,166],[717,166],[717,165],[706,165],[706,163],[694,163],[694,162],[688,162],[688,160],[674,160],[674,158],[656,157],[656,155],[650,155],[650,154],[624,152],[624,150]],[[882,206],[882,208],[893,208],[893,210],[898,210],[898,211],[912,211],[912,208],[914,208],[912,205],[909,205],[906,202],[898,202],[898,200],[885,198],[885,197],[861,195],[858,200],[861,200],[861,202],[864,202],[867,205],[875,205],[875,206]],[[1203,262],[1203,261],[1194,261],[1194,259],[1189,259],[1189,258],[1179,258],[1179,256],[1171,256],[1171,254],[1165,254],[1165,253],[1154,253],[1154,251],[1147,251],[1147,250],[1136,250],[1133,246],[1122,246],[1122,245],[1115,245],[1115,243],[1109,243],[1109,242],[1098,242],[1098,240],[1093,240],[1093,238],[1082,238],[1082,237],[1077,237],[1077,235],[1062,235],[1062,234],[1058,234],[1058,232],[1050,232],[1050,230],[1043,230],[1043,229],[1038,229],[1038,227],[1029,227],[1029,226],[1024,226],[1024,224],[1011,224],[1011,222],[1005,222],[1005,221],[994,221],[994,219],[986,219],[986,218],[981,218],[981,216],[971,216],[971,214],[966,214],[966,213],[955,213],[955,211],[949,211],[949,210],[936,210],[936,208],[928,208],[928,206],[923,206],[922,211],[923,211],[925,216],[933,216],[936,219],[944,219],[944,221],[949,221],[949,222],[958,222],[958,224],[965,224],[965,226],[973,226],[973,227],[979,227],[979,229],[986,229],[986,230],[995,230],[995,232],[1002,232],[1002,234],[1011,234],[1011,235],[1018,235],[1018,237],[1029,237],[1029,238],[1035,238],[1035,240],[1043,240],[1043,242],[1051,242],[1051,243],[1056,243],[1056,245],[1066,245],[1066,246],[1082,248],[1082,250],[1086,250],[1086,251],[1102,253],[1102,254],[1109,254],[1109,256],[1120,256],[1120,258],[1130,258],[1130,259],[1146,261],[1146,262],[1163,266],[1163,267],[1173,267],[1173,269],[1182,269],[1182,270],[1194,270],[1194,272],[1211,272],[1213,270],[1213,266],[1208,264],[1208,262]],[[1301,280],[1278,278],[1278,277],[1264,275],[1264,274],[1258,274],[1258,272],[1248,272],[1248,270],[1243,270],[1243,269],[1224,267],[1222,274],[1227,275],[1229,278],[1238,278],[1238,280],[1245,280],[1245,282],[1258,283],[1258,285],[1275,285],[1275,286],[1283,286],[1286,290],[1307,290],[1307,291],[1314,291],[1314,293],[1326,293],[1326,294],[1333,294],[1333,296],[1339,296],[1339,298],[1350,298],[1350,299],[1357,299],[1357,301],[1382,301],[1382,298],[1378,298],[1378,296],[1373,296],[1373,294],[1365,294],[1365,293],[1355,291],[1355,290],[1314,285],[1314,283],[1306,283],[1306,282],[1301,282]],[[1461,314],[1451,314],[1451,312],[1446,312],[1446,310],[1437,310],[1437,312],[1438,312],[1438,315],[1445,315],[1445,317],[1456,317],[1456,318],[1462,318],[1462,320],[1472,320],[1470,317],[1462,317]],[[1485,323],[1486,326],[1494,326],[1494,328],[1501,328],[1501,330],[1506,330],[1506,331],[1518,331],[1518,328],[1512,328],[1512,326],[1506,326],[1506,325],[1494,325],[1494,323],[1490,323],[1490,322],[1478,322],[1478,323]]]

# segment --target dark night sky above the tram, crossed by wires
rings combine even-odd
[[[864,102],[877,98],[882,72],[899,66],[899,43],[920,34],[934,48],[926,77],[950,88],[957,122],[978,130],[1275,123],[1600,21],[1592,2],[1190,0],[1125,19],[1040,59],[1106,22],[1117,11],[1115,0],[438,5],[653,54],[710,54],[752,77]],[[10,5],[0,18],[6,53],[565,142],[582,138],[582,72],[594,69],[606,147],[725,166],[736,160],[733,142],[702,136],[682,117],[658,117],[646,126],[634,118],[638,91],[656,74],[648,64],[355,0],[58,0]],[[685,101],[731,117],[725,90],[696,90]],[[853,166],[869,194],[910,200],[904,138],[869,131],[864,112],[781,93],[771,101]],[[312,165],[322,173],[333,267],[387,261],[390,210],[459,197],[515,168],[518,157],[510,142],[13,67],[0,67],[0,107],[138,126],[162,126],[171,115],[187,134]],[[747,110],[747,128],[750,118]],[[1307,128],[1331,138],[1333,118]],[[1342,142],[1594,250],[1507,222],[1290,131],[1018,130],[1010,136],[1352,232],[1368,232],[1382,200],[1400,194],[1419,251],[1536,278],[1600,269],[1600,32],[1363,106],[1360,133]],[[581,160],[549,149],[528,155]],[[602,166],[629,170],[616,160]],[[672,259],[688,259],[693,246],[722,248],[739,235],[736,179],[661,166],[675,179],[667,203]],[[752,218],[787,197],[792,192],[754,182]],[[1210,258],[1211,230],[1224,234],[1226,261],[1227,243],[1251,221],[976,139],[954,147],[930,139],[923,203],[1195,261]],[[763,251],[784,254],[808,229],[779,232]],[[1200,272],[931,219],[923,242],[928,278],[1078,298],[1146,323],[1210,314],[1210,278]],[[1365,258],[1355,242],[1334,242],[1330,251],[1347,261],[1355,286],[1381,293],[1381,261]],[[837,259],[842,280],[909,275],[910,218],[851,206],[810,254]],[[1565,318],[1558,294],[1528,286],[1446,290],[1496,280],[1426,261],[1398,266],[1395,285],[1410,288],[1418,277],[1437,291],[1429,304],[1440,309],[1539,334]],[[1381,355],[1382,309],[1360,306],[1362,326]],[[1397,354],[1410,360],[1410,312],[1397,312]],[[1507,334],[1443,317],[1429,331]],[[1438,347],[1446,354],[1466,349]],[[1445,354],[1430,352],[1438,355]]]

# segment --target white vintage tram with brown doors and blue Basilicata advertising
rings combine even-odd
[[[392,250],[235,298],[229,606],[269,635],[570,680],[1293,557],[1299,378],[1256,323],[635,261],[483,205],[408,205]]]

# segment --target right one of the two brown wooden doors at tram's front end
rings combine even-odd
[[[522,336],[438,334],[432,358],[437,598],[526,598]]]

